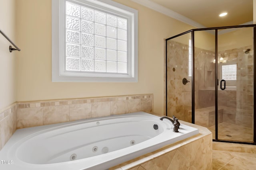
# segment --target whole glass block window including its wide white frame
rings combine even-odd
[[[138,82],[138,11],[112,0],[52,0],[53,82]]]

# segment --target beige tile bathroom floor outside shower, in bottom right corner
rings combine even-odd
[[[213,150],[212,170],[256,170],[256,154]]]

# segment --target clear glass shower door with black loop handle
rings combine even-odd
[[[218,140],[253,141],[253,28],[218,31]]]

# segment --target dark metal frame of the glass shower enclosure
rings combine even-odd
[[[166,116],[167,116],[167,41],[176,37],[179,37],[181,35],[184,35],[186,33],[191,33],[191,48],[192,48],[192,123],[195,123],[195,74],[194,74],[194,57],[195,57],[195,46],[194,46],[194,32],[195,31],[208,31],[208,30],[214,30],[215,31],[215,56],[218,56],[218,29],[231,29],[231,28],[244,28],[244,27],[253,27],[253,49],[254,49],[254,86],[253,86],[253,104],[254,104],[254,109],[253,109],[253,142],[242,142],[242,141],[226,141],[226,140],[218,140],[218,62],[215,63],[215,139],[212,141],[218,141],[218,142],[226,142],[226,143],[240,143],[240,144],[248,144],[248,145],[256,145],[256,57],[255,57],[255,51],[256,51],[256,24],[250,24],[250,25],[235,25],[235,26],[226,26],[226,27],[209,27],[209,28],[198,28],[198,29],[190,29],[186,32],[180,33],[178,35],[175,35],[173,37],[170,37],[166,39]]]

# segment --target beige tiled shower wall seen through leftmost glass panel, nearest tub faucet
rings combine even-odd
[[[182,84],[188,76],[188,45],[176,41],[168,41],[167,45],[167,111],[168,116],[188,120],[191,110],[191,83]]]

